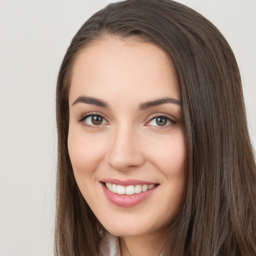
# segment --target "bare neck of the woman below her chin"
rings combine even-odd
[[[120,237],[121,256],[158,256],[165,241],[166,235],[163,234],[122,236]]]

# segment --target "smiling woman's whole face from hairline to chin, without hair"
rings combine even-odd
[[[180,211],[186,149],[168,55],[109,37],[78,55],[69,91],[68,152],[77,185],[112,234],[162,232]]]

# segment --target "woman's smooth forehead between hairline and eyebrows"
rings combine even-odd
[[[104,38],[77,56],[71,76],[69,102],[80,95],[110,100],[111,96],[180,98],[174,65],[160,47],[134,38]],[[120,100],[121,100],[120,99]],[[131,98],[129,98],[131,100]]]

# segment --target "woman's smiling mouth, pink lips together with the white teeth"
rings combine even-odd
[[[100,183],[107,199],[121,207],[135,206],[146,200],[158,187],[157,183],[133,179],[105,179]]]

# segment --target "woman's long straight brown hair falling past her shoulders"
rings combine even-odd
[[[164,255],[256,255],[256,167],[239,70],[206,18],[171,0],[126,0],[92,15],[73,37],[57,80],[55,255],[95,256],[103,227],[82,197],[67,151],[73,62],[104,35],[163,48],[179,79],[188,151],[184,206],[169,224]]]

